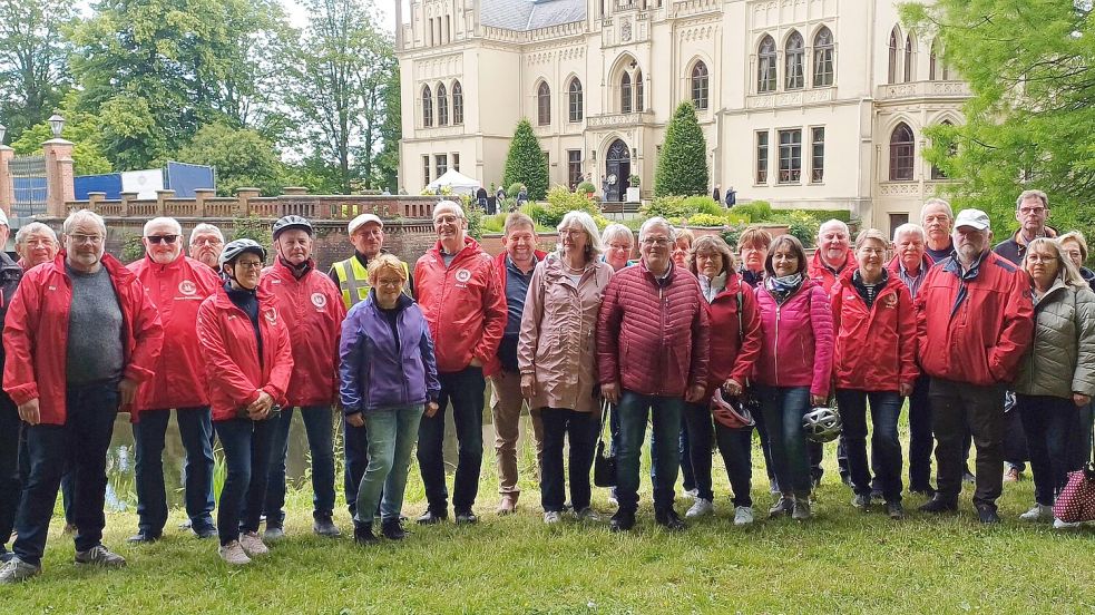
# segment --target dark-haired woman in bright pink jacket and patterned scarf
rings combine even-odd
[[[802,417],[829,398],[832,375],[832,311],[829,296],[806,275],[806,254],[792,235],[772,242],[764,260],[764,284],[756,287],[761,311],[761,357],[754,379],[771,438],[782,497],[772,517],[810,511],[810,459]]]

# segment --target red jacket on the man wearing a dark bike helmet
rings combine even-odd
[[[346,318],[342,291],[309,262],[300,280],[281,258],[263,270],[258,289],[274,297],[289,329],[293,375],[286,406],[331,406],[339,399],[339,336]]]

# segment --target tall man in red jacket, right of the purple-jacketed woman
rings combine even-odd
[[[422,417],[418,462],[429,508],[420,524],[448,518],[444,486],[444,412],[452,402],[459,442],[452,507],[458,524],[478,521],[472,511],[482,467],[482,406],[486,377],[498,372],[498,344],[506,330],[506,294],[490,256],[467,236],[463,209],[452,201],[433,208],[438,243],[414,265],[419,306],[430,325],[441,381],[440,411]]]

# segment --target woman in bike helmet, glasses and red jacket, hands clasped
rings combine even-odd
[[[267,553],[258,537],[277,407],[293,373],[289,330],[274,299],[257,292],[266,251],[236,240],[221,253],[224,287],[198,309],[213,424],[227,477],[217,502],[221,558],[243,565]]]

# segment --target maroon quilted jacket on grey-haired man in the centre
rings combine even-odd
[[[710,331],[700,282],[673,266],[658,284],[645,263],[613,275],[597,322],[602,384],[648,396],[681,397],[707,384]]]

